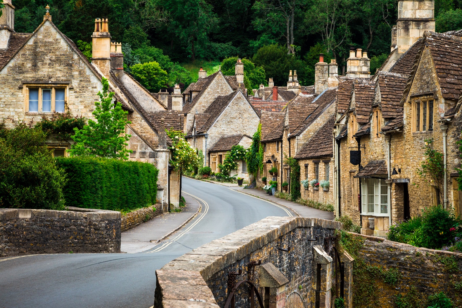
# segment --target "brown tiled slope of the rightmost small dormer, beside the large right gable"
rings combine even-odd
[[[395,118],[403,110],[400,101],[407,83],[407,76],[379,72],[377,82],[380,89],[382,116],[384,119]]]

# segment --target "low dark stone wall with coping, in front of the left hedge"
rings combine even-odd
[[[120,253],[121,214],[0,209],[0,257],[20,254]]]

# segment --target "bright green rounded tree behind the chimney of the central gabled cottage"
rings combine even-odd
[[[235,64],[237,57],[226,58],[221,61],[221,72],[225,75],[235,74]],[[263,66],[255,66],[250,60],[242,59],[244,64],[244,84],[248,93],[252,93],[252,89],[258,89],[260,84],[266,83],[266,74]]]

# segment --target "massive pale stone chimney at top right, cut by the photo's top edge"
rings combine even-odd
[[[426,30],[435,31],[435,1],[399,0],[396,22],[398,53],[405,53]]]

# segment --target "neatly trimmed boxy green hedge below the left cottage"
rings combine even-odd
[[[150,163],[95,157],[59,157],[66,171],[67,206],[131,210],[156,203],[158,169]]]

